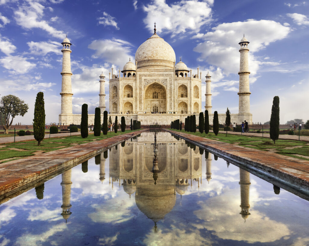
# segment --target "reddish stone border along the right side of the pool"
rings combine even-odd
[[[297,159],[286,155],[280,155],[269,151],[260,151],[248,147],[231,145],[213,139],[202,138],[192,134],[180,133],[163,129],[174,134],[194,145],[218,155],[222,159],[237,163],[239,167],[244,167],[247,171],[270,182],[275,180],[286,187],[293,188],[296,195],[304,199],[309,196],[309,161]],[[239,165],[240,164],[240,165]],[[290,191],[290,190],[289,190]],[[304,194],[303,197],[300,194]]]

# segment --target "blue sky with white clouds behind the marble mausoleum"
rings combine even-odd
[[[46,122],[58,122],[61,106],[61,42],[72,53],[73,113],[99,106],[99,74],[122,70],[153,33],[164,38],[193,70],[212,75],[213,111],[238,112],[239,41],[250,41],[253,122],[268,121],[280,97],[280,122],[309,119],[309,2],[303,1],[70,1],[0,0],[0,94],[29,104],[15,122],[31,124],[37,92],[44,92]],[[202,109],[205,96],[202,97]],[[15,124],[15,122],[13,124]]]

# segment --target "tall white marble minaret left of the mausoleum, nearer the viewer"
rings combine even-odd
[[[61,117],[59,121],[66,125],[73,123],[72,115],[72,83],[71,83],[71,52],[70,50],[71,43],[70,40],[66,37],[62,44],[62,85],[61,85]],[[68,117],[69,116],[69,117]]]

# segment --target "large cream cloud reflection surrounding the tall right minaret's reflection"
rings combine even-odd
[[[251,215],[244,223],[239,214],[239,204],[239,189],[233,189],[220,197],[209,198],[207,204],[201,202],[199,205],[202,208],[194,214],[205,221],[205,229],[214,231],[214,235],[225,240],[244,240],[246,235],[245,240],[249,243],[265,243],[290,235],[285,224],[271,220],[257,210],[251,209]],[[227,207],[230,209],[227,210]]]

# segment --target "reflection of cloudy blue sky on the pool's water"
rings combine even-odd
[[[118,145],[121,148],[121,145]],[[109,151],[108,151],[109,155]],[[151,153],[153,155],[153,153]],[[210,154],[211,155],[211,154]],[[35,189],[0,206],[0,245],[307,245],[309,203],[291,193],[273,192],[273,185],[250,174],[251,215],[239,214],[239,168],[226,166],[211,155],[212,179],[205,179],[202,155],[202,184],[197,181],[164,219],[147,218],[135,204],[135,195],[125,193],[119,182],[108,182],[109,159],[103,183],[99,165],[88,161],[72,169],[70,218],[61,216],[61,175],[44,184],[44,198]],[[122,180],[121,180],[122,183]]]

